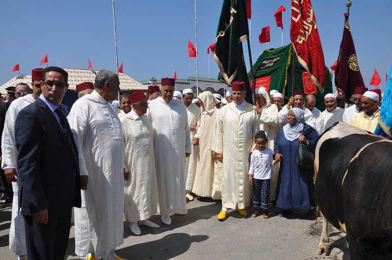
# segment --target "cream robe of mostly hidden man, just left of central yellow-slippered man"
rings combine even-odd
[[[220,115],[220,109],[218,109],[217,112],[215,113],[214,125],[212,127],[213,131],[212,131],[210,147],[209,147],[210,152],[214,151],[215,149],[216,127],[219,123],[219,115]],[[214,160],[214,181],[212,183],[212,199],[214,200],[222,199],[222,190],[223,190],[222,183],[223,183],[223,164],[218,160]]]

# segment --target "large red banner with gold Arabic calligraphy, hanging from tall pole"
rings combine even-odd
[[[324,54],[310,0],[300,2],[291,0],[290,38],[299,62],[323,93],[325,86]]]

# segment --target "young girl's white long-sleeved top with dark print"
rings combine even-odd
[[[249,174],[255,179],[271,179],[271,166],[274,165],[272,150],[265,148],[263,151],[254,150],[250,157]]]

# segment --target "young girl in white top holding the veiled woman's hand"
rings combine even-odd
[[[279,162],[281,158],[278,155],[277,161],[275,161],[272,156],[272,150],[266,148],[267,136],[264,131],[260,131],[254,136],[254,142],[257,147],[252,152],[249,168],[249,184],[253,184],[252,202],[254,211],[252,217],[258,216],[260,214],[260,207],[262,207],[263,218],[268,218],[271,165]]]

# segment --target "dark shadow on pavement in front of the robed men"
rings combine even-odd
[[[116,254],[126,259],[171,259],[185,253],[192,243],[208,238],[206,235],[175,233],[158,240],[118,249]]]

